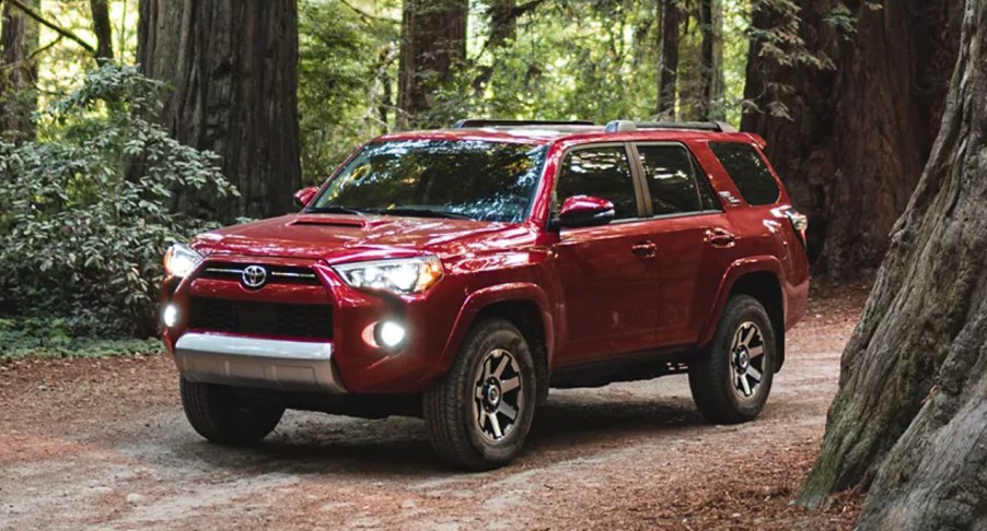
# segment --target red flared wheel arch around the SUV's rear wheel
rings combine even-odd
[[[781,263],[775,257],[757,257],[731,264],[720,283],[715,309],[707,319],[699,344],[706,345],[712,339],[727,300],[738,294],[756,298],[771,319],[771,328],[778,343],[775,370],[780,370],[785,363],[786,299],[781,286]]]

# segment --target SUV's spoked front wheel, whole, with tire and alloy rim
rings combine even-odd
[[[432,448],[457,468],[490,470],[521,450],[534,417],[535,366],[503,319],[476,324],[449,373],[422,397]]]

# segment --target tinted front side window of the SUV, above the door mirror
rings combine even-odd
[[[617,220],[637,217],[634,178],[624,148],[589,148],[570,152],[559,172],[556,198],[561,203],[572,196],[608,200],[614,203]]]

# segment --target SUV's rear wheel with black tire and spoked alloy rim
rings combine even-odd
[[[702,416],[719,424],[752,421],[771,390],[775,331],[760,303],[735,295],[709,345],[689,365],[689,388]]]

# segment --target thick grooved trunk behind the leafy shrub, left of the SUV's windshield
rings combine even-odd
[[[138,61],[174,87],[162,122],[211,150],[240,198],[179,197],[185,212],[266,217],[301,186],[293,0],[141,0]]]

